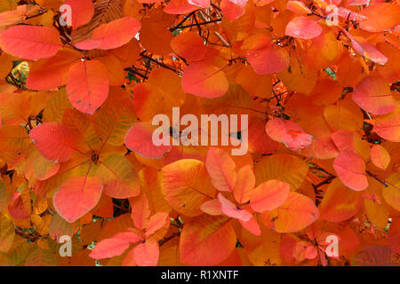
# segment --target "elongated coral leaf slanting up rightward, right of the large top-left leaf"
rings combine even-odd
[[[81,50],[111,50],[129,43],[139,32],[141,24],[132,17],[124,17],[118,20],[102,24],[93,31],[92,39],[76,43]]]

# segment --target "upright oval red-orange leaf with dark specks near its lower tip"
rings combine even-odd
[[[108,98],[107,68],[99,60],[84,60],[68,70],[69,102],[84,114],[93,114]]]

